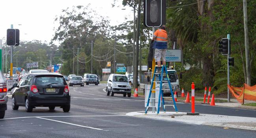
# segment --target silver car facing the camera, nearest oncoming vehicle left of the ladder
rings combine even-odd
[[[114,93],[123,94],[123,97],[131,97],[131,85],[128,78],[121,74],[110,74],[107,83],[107,95],[114,96]]]

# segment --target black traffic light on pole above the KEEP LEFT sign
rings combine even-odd
[[[7,40],[6,43],[9,46],[20,45],[20,31],[19,29],[7,29]]]

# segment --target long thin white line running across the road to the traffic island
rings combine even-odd
[[[0,120],[21,119],[21,118],[36,118],[36,117],[111,117],[111,116],[126,116],[126,115],[102,115],[102,116],[26,116],[26,117],[4,118],[4,119],[0,119]]]

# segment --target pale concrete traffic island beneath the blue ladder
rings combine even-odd
[[[233,129],[245,129],[256,131],[256,118],[254,117],[239,117],[239,116],[223,116],[212,114],[200,114],[199,116],[187,116],[185,112],[160,112],[156,113],[148,112],[144,114],[141,112],[130,112],[127,116],[157,119],[164,121],[178,121],[182,123],[195,124],[195,125],[208,125],[215,127],[227,127]]]

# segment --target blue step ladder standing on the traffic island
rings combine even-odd
[[[162,100],[163,100],[163,109],[164,109],[164,112],[166,112],[166,106],[174,106],[174,109],[176,112],[178,112],[178,109],[177,109],[177,106],[176,106],[176,102],[174,100],[174,94],[173,94],[173,91],[172,91],[172,84],[170,83],[170,79],[169,79],[169,76],[168,76],[168,72],[167,72],[167,69],[166,69],[166,65],[163,65],[162,69],[161,69],[161,73],[156,73],[156,70],[157,70],[157,67],[155,67],[155,70],[154,70],[154,73],[153,73],[153,79],[151,81],[151,86],[150,86],[150,90],[149,90],[149,96],[148,96],[148,103],[147,103],[147,106],[146,106],[146,109],[145,109],[145,114],[147,114],[148,112],[148,109],[151,107],[151,108],[157,108],[157,114],[159,114],[160,112],[160,103],[161,103],[161,97],[162,97]],[[167,80],[163,80],[163,72],[165,71],[166,73],[166,76],[167,76]],[[161,76],[160,76],[161,74]],[[155,75],[158,75],[159,76],[159,81],[155,81]],[[157,99],[157,98],[151,98],[151,93],[152,91],[158,91],[158,89],[153,89],[153,84],[154,83],[157,83],[157,82],[160,82],[160,86],[159,86],[159,97],[158,97],[158,105],[157,106],[149,106],[149,101],[152,99]],[[164,97],[163,95],[163,90],[169,90],[169,89],[163,89],[163,82],[168,82],[169,84],[169,89],[170,89],[170,92],[171,92],[171,95],[172,95],[172,101],[173,101],[173,104],[164,104],[164,98],[170,98],[170,97]]]

